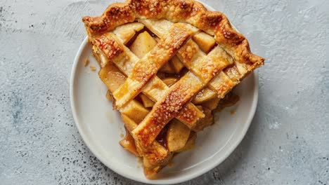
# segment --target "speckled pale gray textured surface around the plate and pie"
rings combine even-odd
[[[259,104],[224,163],[185,184],[329,184],[329,1],[205,1],[266,57]],[[102,165],[70,110],[83,15],[110,1],[0,2],[0,184],[136,184]]]

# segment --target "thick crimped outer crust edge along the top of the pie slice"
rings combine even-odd
[[[264,58],[250,51],[245,36],[236,32],[223,13],[207,11],[194,0],[127,0],[108,6],[99,17],[84,17],[82,21],[89,36],[111,31],[136,19],[157,18],[172,22],[187,22],[208,34],[235,60],[253,63],[254,68],[264,64]]]

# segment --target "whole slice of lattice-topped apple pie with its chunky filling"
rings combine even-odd
[[[82,20],[127,129],[120,144],[150,179],[193,148],[220,100],[264,64],[224,14],[193,0],[129,0]]]

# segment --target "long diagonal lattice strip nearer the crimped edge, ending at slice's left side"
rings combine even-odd
[[[122,107],[136,97],[150,78],[157,74],[157,71],[175,55],[176,50],[181,48],[192,34],[193,30],[183,23],[169,27],[164,39],[161,39],[153,50],[135,64],[127,81],[113,93],[117,107]]]

